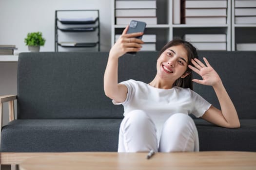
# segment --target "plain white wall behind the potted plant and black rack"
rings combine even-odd
[[[111,0],[0,0],[0,44],[28,51],[24,38],[42,32],[40,51],[54,51],[55,10],[99,9],[101,51],[111,47]]]

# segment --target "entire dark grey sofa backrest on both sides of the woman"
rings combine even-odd
[[[198,51],[222,78],[240,119],[256,119],[256,52]],[[156,74],[158,52],[138,52],[119,59],[119,82],[150,82]],[[20,53],[18,62],[18,119],[115,119],[123,107],[103,90],[108,52]],[[195,75],[197,76],[197,75]],[[210,86],[194,90],[219,108]]]

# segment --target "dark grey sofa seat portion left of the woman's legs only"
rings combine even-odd
[[[19,119],[2,128],[1,152],[118,150],[121,119]]]

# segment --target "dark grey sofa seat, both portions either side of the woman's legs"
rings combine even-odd
[[[121,119],[21,119],[3,127],[1,152],[117,152]],[[227,129],[195,119],[200,151],[256,152],[256,119]]]

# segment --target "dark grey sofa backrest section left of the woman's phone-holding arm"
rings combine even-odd
[[[103,91],[107,52],[20,53],[18,119],[122,118]]]

